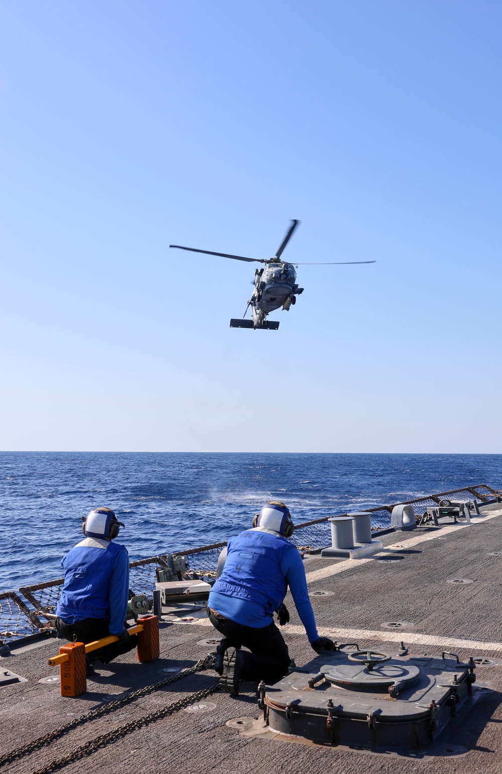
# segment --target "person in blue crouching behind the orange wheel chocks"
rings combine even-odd
[[[108,664],[136,646],[136,635],[125,627],[129,590],[129,557],[125,546],[111,541],[120,527],[109,508],[94,508],[82,519],[85,539],[63,557],[64,585],[56,607],[59,637],[95,642],[114,635],[118,642],[86,656],[87,675],[94,672],[91,659]]]

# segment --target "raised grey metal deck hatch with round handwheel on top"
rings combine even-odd
[[[338,651],[305,669],[265,690],[271,730],[369,749],[430,745],[473,682],[472,664],[417,656],[391,657],[368,670]]]

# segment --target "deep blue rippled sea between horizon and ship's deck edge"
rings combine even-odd
[[[135,560],[227,539],[268,499],[299,523],[480,483],[502,486],[502,455],[2,452],[0,591],[60,577],[97,505]]]

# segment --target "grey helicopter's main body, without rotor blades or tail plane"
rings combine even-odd
[[[288,311],[296,301],[295,296],[302,291],[303,288],[296,284],[292,263],[271,259],[263,269],[256,269],[254,290],[249,301],[254,324],[263,324],[268,313],[279,307]]]

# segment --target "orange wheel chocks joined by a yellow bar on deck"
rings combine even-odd
[[[159,618],[145,615],[138,618],[138,625],[128,629],[130,635],[138,635],[137,655],[141,663],[159,658]],[[86,653],[104,648],[120,638],[110,635],[95,642],[70,642],[60,648],[60,655],[47,659],[49,666],[60,666],[61,696],[76,697],[87,690]]]

